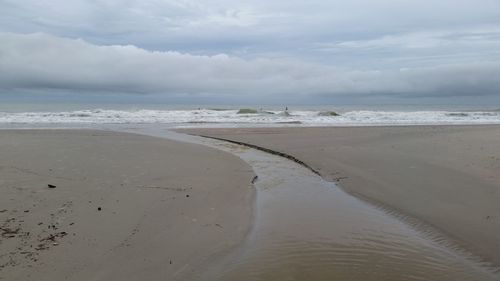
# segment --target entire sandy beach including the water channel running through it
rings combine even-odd
[[[498,278],[499,126],[108,130],[0,131],[0,280]]]

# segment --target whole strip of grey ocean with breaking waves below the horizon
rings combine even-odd
[[[465,105],[0,104],[2,127],[53,124],[163,124],[168,127],[500,124],[500,108]]]

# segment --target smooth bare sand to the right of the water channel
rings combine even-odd
[[[182,130],[292,155],[500,265],[500,126]]]

